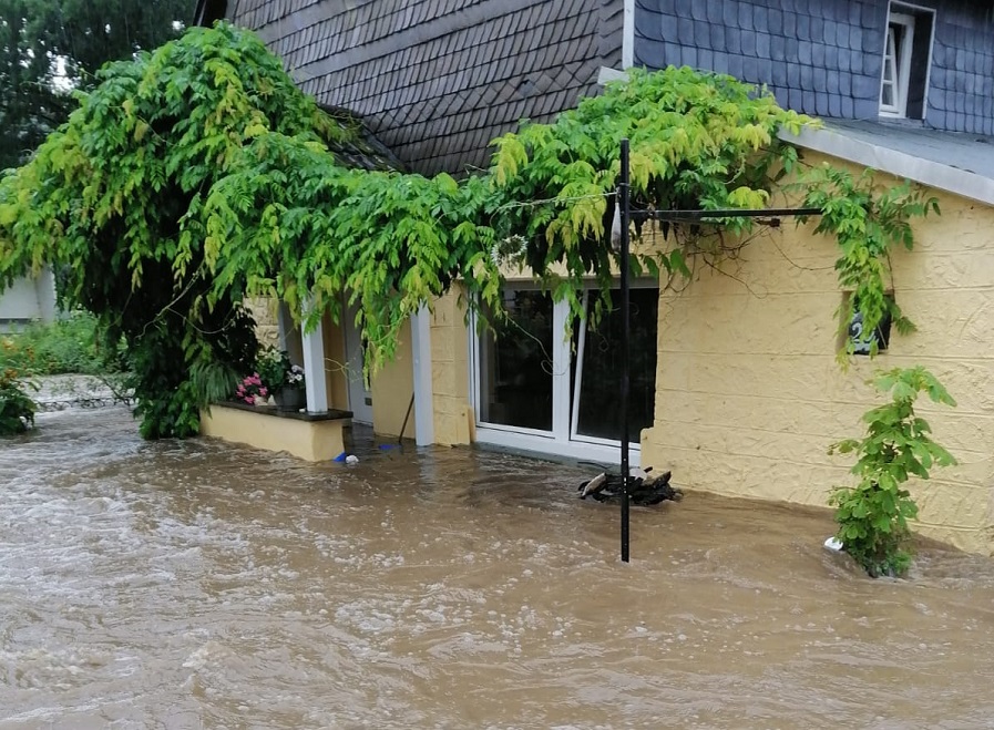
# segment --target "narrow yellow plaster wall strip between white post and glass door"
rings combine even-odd
[[[473,410],[469,400],[469,331],[459,292],[434,302],[431,315],[431,388],[434,441],[444,445],[472,440]]]

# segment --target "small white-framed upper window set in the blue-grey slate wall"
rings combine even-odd
[[[880,115],[924,119],[935,12],[892,2],[880,80]]]

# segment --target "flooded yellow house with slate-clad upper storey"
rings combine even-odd
[[[766,85],[823,128],[806,163],[910,178],[940,203],[892,258],[916,323],[840,370],[837,244],[812,227],[759,236],[685,290],[635,282],[635,460],[683,487],[823,505],[848,483],[828,444],[858,435],[878,368],[924,364],[959,401],[921,411],[960,465],[916,484],[916,529],[994,553],[994,3],[969,0],[202,0],[197,21],[256,31],[320,104],[359,115],[407,168],[472,174],[489,142],[547,121],[625,69],[688,65]],[[471,442],[614,461],[617,313],[563,337],[567,306],[527,278],[516,327],[478,331],[458,292],[406,328],[369,390],[346,317],[299,343],[308,410],[346,409],[419,444]],[[326,361],[349,367],[325,368]],[[315,370],[311,370],[314,372]],[[310,384],[312,383],[312,385]]]

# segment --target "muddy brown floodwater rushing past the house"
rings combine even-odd
[[[592,470],[0,442],[0,728],[991,728],[994,564],[870,580],[826,512],[582,502]],[[679,474],[674,479],[679,482]]]

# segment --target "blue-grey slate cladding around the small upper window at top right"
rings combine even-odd
[[[994,134],[994,12],[937,8],[928,126]],[[635,0],[635,64],[728,73],[781,105],[828,119],[878,117],[887,0]]]

